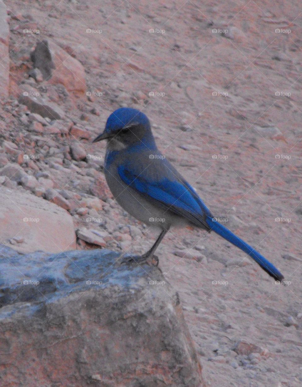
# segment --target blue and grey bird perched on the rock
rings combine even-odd
[[[250,255],[275,280],[284,278],[271,262],[215,221],[194,188],[157,149],[144,113],[132,108],[115,110],[108,117],[103,133],[93,142],[104,139],[107,140],[105,177],[113,196],[136,219],[161,229],[147,253],[125,257],[123,262],[146,262],[171,226],[190,224],[213,230]]]

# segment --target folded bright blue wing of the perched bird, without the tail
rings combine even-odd
[[[124,183],[135,189],[151,202],[156,201],[165,211],[185,217],[196,226],[209,230],[206,216],[211,215],[206,205],[190,185],[175,176],[153,180],[147,173],[138,174],[125,165],[118,166],[118,175]]]

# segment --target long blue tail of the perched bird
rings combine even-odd
[[[250,255],[250,257],[252,257],[252,259],[254,259],[257,264],[260,265],[262,269],[265,270],[270,276],[275,278],[276,281],[281,281],[284,278],[280,271],[276,269],[276,267],[271,264],[271,262],[269,262],[260,253],[254,250],[254,248],[245,243],[245,241],[233,234],[232,231],[230,231],[228,228],[213,219],[213,217],[207,216],[206,222],[208,223],[209,227],[215,231],[215,233],[219,234],[227,241],[233,243],[233,245],[239,247],[242,251]]]

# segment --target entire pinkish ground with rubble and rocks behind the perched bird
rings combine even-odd
[[[6,5],[6,7],[5,7]],[[285,276],[217,235],[158,248],[209,386],[302,382],[302,14],[298,1],[0,3],[0,243],[148,250],[92,144],[120,106],[211,211]],[[5,259],[3,257],[2,259]]]

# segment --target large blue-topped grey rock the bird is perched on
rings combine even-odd
[[[177,292],[118,257],[0,246],[0,385],[204,386]]]

